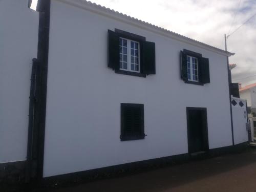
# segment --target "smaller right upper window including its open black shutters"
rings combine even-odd
[[[181,78],[185,83],[203,86],[210,82],[209,59],[202,54],[184,49],[180,52]]]

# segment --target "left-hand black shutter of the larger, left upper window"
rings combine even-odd
[[[108,30],[108,67],[119,69],[119,36]]]

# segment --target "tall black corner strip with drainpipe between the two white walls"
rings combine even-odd
[[[37,59],[33,59],[32,69],[32,76],[36,75],[36,79],[32,83],[31,78],[30,88],[26,182],[40,181],[44,165],[50,0],[38,0],[36,11],[39,12]],[[36,98],[36,102],[32,98]]]

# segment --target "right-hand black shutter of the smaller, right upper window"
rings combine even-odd
[[[202,83],[210,83],[209,59],[199,58],[199,81]]]

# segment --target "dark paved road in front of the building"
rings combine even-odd
[[[51,190],[71,191],[256,191],[256,150]]]

